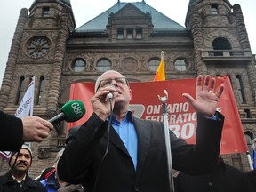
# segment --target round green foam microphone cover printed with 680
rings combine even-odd
[[[70,100],[68,101],[60,111],[66,116],[67,122],[75,122],[82,118],[85,114],[84,104],[81,100]]]

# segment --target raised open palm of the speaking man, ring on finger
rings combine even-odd
[[[188,93],[182,95],[188,102],[195,108],[197,113],[203,116],[214,116],[217,108],[218,101],[224,90],[224,85],[221,84],[217,92],[214,92],[216,80],[211,76],[205,76],[204,85],[203,76],[198,76],[196,81],[196,99]]]

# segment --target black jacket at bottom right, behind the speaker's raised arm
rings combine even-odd
[[[211,174],[191,176],[180,172],[176,182],[178,192],[255,192],[245,172],[222,161]]]

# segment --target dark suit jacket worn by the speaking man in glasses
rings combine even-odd
[[[170,132],[172,165],[176,170],[191,174],[211,172],[220,153],[221,130],[224,116],[214,121],[197,116],[196,146],[188,145]],[[164,124],[155,121],[132,119],[138,136],[138,164],[135,171],[123,141],[114,128],[110,128],[108,154],[108,121],[92,116],[68,142],[58,163],[61,180],[85,183],[84,191],[95,192],[167,192],[168,168],[164,141]]]

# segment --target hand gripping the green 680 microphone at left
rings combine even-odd
[[[23,140],[26,142],[42,142],[52,131],[53,125],[38,116],[21,118],[23,124]]]

